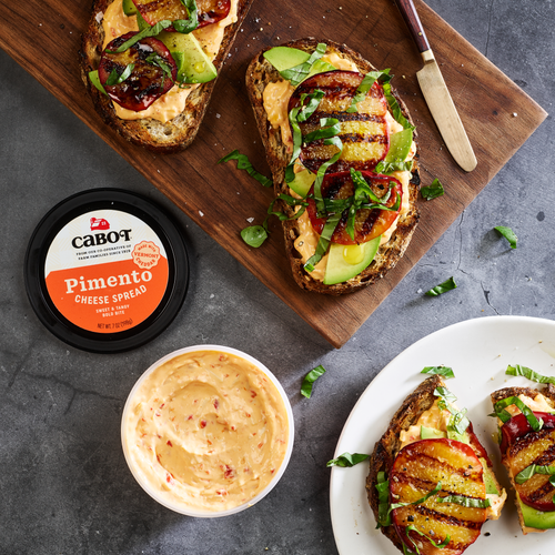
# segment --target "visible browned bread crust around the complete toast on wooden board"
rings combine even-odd
[[[375,70],[375,68],[365,60],[361,54],[346,47],[345,44],[339,44],[330,40],[316,40],[314,38],[305,38],[300,40],[294,40],[282,44],[284,47],[296,48],[299,50],[304,50],[306,52],[313,52],[319,42],[324,42],[327,46],[327,53],[336,53],[342,58],[353,61],[361,73],[367,73],[369,71]],[[281,80],[281,75],[278,70],[263,57],[265,52],[262,50],[249,64],[246,71],[246,90],[249,92],[249,98],[251,105],[254,111],[254,117],[256,119],[258,128],[264,144],[266,152],[268,163],[272,172],[274,192],[275,194],[289,193],[289,188],[284,180],[285,168],[290,162],[291,154],[287,153],[286,145],[283,143],[281,138],[280,129],[274,129],[266,118],[266,112],[263,104],[263,91],[266,84],[271,82],[276,82]],[[392,88],[392,93],[397,100],[403,115],[412,122],[411,115],[405,103],[398,97],[398,94]],[[416,141],[416,133],[414,135]],[[410,210],[404,214],[398,223],[395,232],[393,233],[391,240],[384,245],[380,246],[374,260],[366,270],[361,274],[352,278],[351,280],[339,283],[335,285],[325,285],[323,282],[311,278],[310,273],[303,269],[303,262],[294,248],[295,239],[300,235],[299,225],[295,220],[289,220],[282,222],[284,236],[285,236],[285,249],[287,252],[289,261],[291,263],[291,269],[293,272],[293,278],[296,283],[306,291],[314,291],[317,293],[341,295],[344,293],[351,293],[363,289],[371,283],[374,283],[380,278],[383,278],[389,270],[391,270],[398,262],[403,253],[405,252],[408,243],[411,241],[412,234],[418,222],[418,210],[416,208],[416,199],[420,185],[420,175],[417,170],[417,153],[413,164],[412,179],[410,183]],[[294,211],[292,208],[282,204],[282,210],[289,215],[293,215]]]

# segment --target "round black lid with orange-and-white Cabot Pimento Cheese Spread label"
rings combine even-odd
[[[39,320],[75,347],[115,353],[159,335],[183,304],[189,263],[170,216],[119,189],[70,196],[39,223],[26,285]]]

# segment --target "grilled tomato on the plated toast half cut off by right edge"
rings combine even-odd
[[[555,466],[555,415],[541,412],[534,414],[536,418],[544,421],[539,432],[532,430],[524,414],[513,416],[501,428],[506,446],[502,455],[513,477],[532,464]],[[555,487],[549,483],[549,475],[534,474],[522,484],[515,481],[515,490],[525,505],[543,512],[555,511]]]

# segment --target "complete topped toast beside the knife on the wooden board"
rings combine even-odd
[[[414,232],[415,129],[391,78],[344,44],[312,38],[249,65],[285,246],[305,290],[337,295],[373,283]]]

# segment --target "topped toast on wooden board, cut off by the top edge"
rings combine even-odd
[[[94,0],[82,78],[103,120],[159,152],[192,142],[252,0]]]

